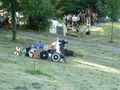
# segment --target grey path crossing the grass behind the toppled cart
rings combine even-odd
[[[44,36],[44,35],[40,35],[37,33],[31,33],[31,32],[18,32],[19,35],[23,35],[23,36],[31,36],[31,37],[35,37],[35,38],[42,38],[42,39],[47,39],[47,40],[52,40],[55,41],[56,40],[56,36]],[[113,52],[120,52],[120,48],[118,47],[114,47],[111,45],[104,45],[104,44],[100,44],[100,43],[89,43],[89,42],[83,42],[83,41],[79,41],[79,40],[72,40],[72,39],[67,39],[67,38],[60,38],[60,39],[64,39],[66,41],[69,42],[69,44],[71,45],[76,45],[76,46],[89,46],[89,47],[96,47],[96,48],[100,48],[103,50],[108,50],[108,51],[113,51]]]

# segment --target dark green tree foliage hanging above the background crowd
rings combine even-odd
[[[53,16],[61,17],[63,14],[78,13],[82,8],[93,7],[96,11],[96,0],[49,0]]]

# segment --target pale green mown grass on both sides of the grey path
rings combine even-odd
[[[92,27],[94,35],[79,39],[107,44],[110,32],[108,26],[109,24]],[[115,27],[115,43],[111,45],[119,47],[120,26],[115,24]],[[51,43],[48,40],[20,35],[17,41],[11,41],[11,34],[0,32],[0,90],[120,89],[120,54],[118,52],[68,44],[66,47],[74,50],[79,56],[67,57],[65,63],[13,54],[16,46],[26,47],[32,42],[39,41]],[[34,61],[36,70],[34,70]]]

